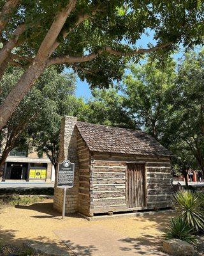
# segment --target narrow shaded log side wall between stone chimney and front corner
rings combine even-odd
[[[91,155],[89,148],[80,136],[79,132],[77,134],[77,155],[79,162],[78,212],[87,216],[92,216],[92,214],[90,214]]]

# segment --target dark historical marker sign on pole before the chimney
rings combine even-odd
[[[57,188],[64,189],[62,219],[64,218],[64,215],[65,215],[66,189],[73,188],[74,173],[75,173],[75,164],[71,163],[69,160],[64,160],[64,162],[58,164]]]

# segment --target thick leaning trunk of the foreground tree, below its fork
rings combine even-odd
[[[29,92],[34,82],[40,77],[47,65],[47,61],[35,61],[31,67],[20,77],[17,85],[11,90],[3,104],[0,106],[0,130],[6,125],[20,101]]]

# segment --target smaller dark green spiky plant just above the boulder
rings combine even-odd
[[[181,216],[170,219],[170,225],[164,235],[165,239],[177,238],[187,243],[194,244],[197,242],[196,237],[192,234],[193,228]]]

